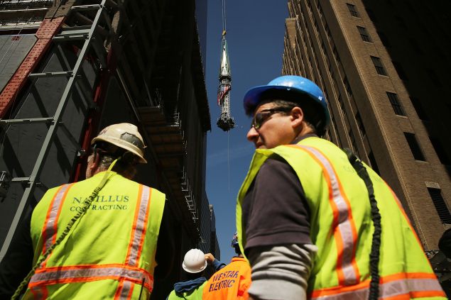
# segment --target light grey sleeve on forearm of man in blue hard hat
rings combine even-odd
[[[249,251],[254,299],[305,300],[313,257],[312,244],[255,247]]]

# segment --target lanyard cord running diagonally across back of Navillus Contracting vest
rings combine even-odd
[[[26,277],[22,280],[21,284],[19,284],[18,288],[16,289],[16,291],[14,292],[13,296],[11,297],[11,300],[16,300],[18,299],[18,297],[21,295],[22,290],[28,285],[28,282],[30,281],[31,277],[33,276],[33,274],[36,272],[36,270],[38,270],[38,267],[40,267],[40,264],[45,261],[48,257],[48,255],[50,255],[50,253],[58,246],[60,245],[61,242],[63,242],[63,240],[69,236],[72,232],[73,229],[75,227],[77,227],[77,224],[80,223],[80,220],[83,216],[85,216],[85,213],[87,212],[87,210],[89,209],[89,206],[91,205],[92,201],[94,201],[95,197],[97,197],[97,195],[99,194],[99,191],[101,191],[103,189],[103,187],[105,186],[105,184],[107,184],[108,180],[111,178],[109,177],[110,171],[112,170],[112,168],[114,167],[114,164],[116,164],[118,159],[114,160],[114,162],[112,162],[112,164],[109,166],[107,172],[105,172],[104,177],[102,178],[102,181],[99,183],[99,185],[92,191],[92,194],[85,199],[85,201],[83,201],[83,206],[80,209],[80,211],[77,212],[77,214],[75,214],[75,216],[73,216],[69,223],[67,223],[67,226],[65,228],[65,230],[63,231],[63,233],[61,233],[61,235],[58,237],[58,239],[55,241],[55,243],[53,243],[53,245],[51,245],[45,252],[44,254],[38,259],[38,261],[36,262],[36,264],[33,266],[33,268],[31,268],[31,271],[28,272],[28,274],[26,275]],[[78,223],[76,223],[78,221]]]

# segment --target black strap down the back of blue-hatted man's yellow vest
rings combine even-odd
[[[366,171],[365,166],[362,161],[354,155],[352,150],[344,148],[343,151],[346,153],[349,162],[351,163],[354,170],[356,170],[359,177],[365,182],[366,189],[368,190],[369,203],[371,205],[371,220],[374,225],[373,238],[371,240],[371,252],[369,254],[369,270],[371,274],[371,282],[369,284],[369,300],[377,300],[379,297],[379,256],[381,249],[381,214],[379,213],[379,208],[377,207],[376,197],[374,196],[373,182],[369,178],[368,171]]]

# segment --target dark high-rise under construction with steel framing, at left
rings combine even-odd
[[[0,260],[48,188],[84,179],[99,130],[135,123],[148,146],[136,181],[167,198],[161,235],[171,243],[158,245],[152,294],[165,299],[185,252],[216,251],[205,194],[207,1],[0,5]]]

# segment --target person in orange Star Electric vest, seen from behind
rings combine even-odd
[[[249,299],[251,266],[241,254],[237,233],[232,238],[232,248],[237,256],[226,267],[214,273],[204,287],[203,300]]]

